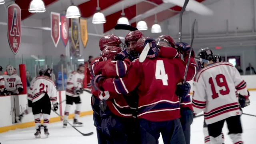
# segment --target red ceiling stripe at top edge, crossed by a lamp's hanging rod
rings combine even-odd
[[[119,1],[121,0],[99,0],[100,9],[104,10],[105,8],[108,8],[109,6]],[[78,8],[81,11],[81,15],[84,18],[88,18],[92,16],[96,12],[96,7],[97,7],[97,0],[89,0],[88,2],[85,2],[78,6]]]

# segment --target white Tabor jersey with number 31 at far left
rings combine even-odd
[[[6,75],[3,75],[3,77],[4,77],[4,81],[5,81],[4,88],[6,88],[8,91],[17,93],[18,88],[23,88],[20,76],[18,76],[17,74],[12,74],[12,75],[6,74]]]

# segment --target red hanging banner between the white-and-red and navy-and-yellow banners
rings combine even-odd
[[[61,35],[61,39],[62,42],[64,44],[64,46],[66,47],[68,44],[68,18],[66,18],[66,16],[64,14],[60,15],[60,22],[61,22],[61,26],[60,26],[60,35]]]

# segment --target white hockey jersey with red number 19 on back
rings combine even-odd
[[[206,124],[240,115],[236,91],[248,96],[246,82],[229,62],[210,64],[198,72],[193,84],[195,113],[204,111]]]

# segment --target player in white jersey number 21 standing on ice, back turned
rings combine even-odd
[[[52,69],[47,68],[43,76],[36,78],[33,85],[32,112],[36,123],[36,138],[41,138],[41,115],[44,118],[44,135],[49,136],[48,126],[50,122],[51,101],[53,111],[58,110],[57,90],[54,82],[50,79]]]

